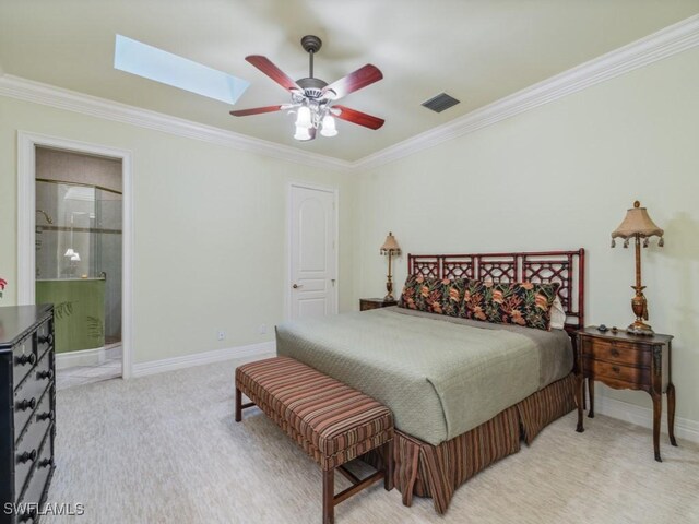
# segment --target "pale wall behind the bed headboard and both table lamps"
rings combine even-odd
[[[405,253],[584,247],[588,322],[626,326],[633,252],[609,234],[639,199],[666,231],[642,253],[650,322],[676,336],[677,414],[699,421],[698,86],[695,49],[362,175],[355,298],[383,293],[389,230]]]

